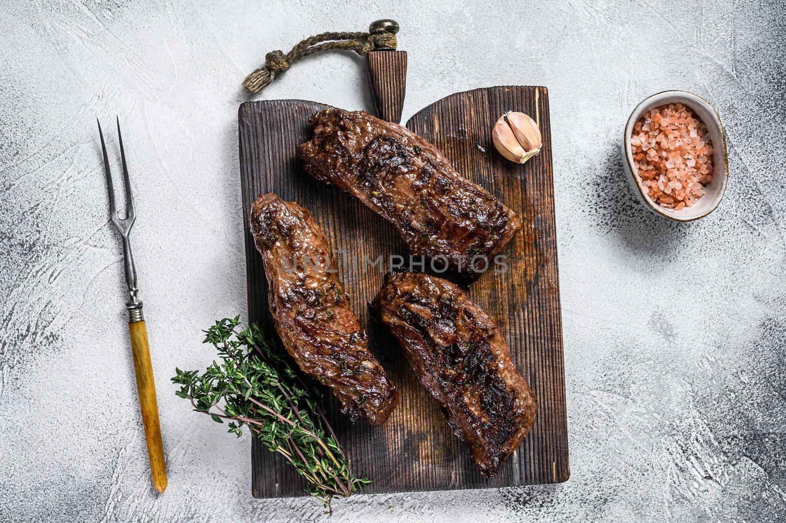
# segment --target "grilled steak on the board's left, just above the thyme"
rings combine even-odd
[[[367,348],[310,212],[272,192],[254,202],[251,229],[265,262],[270,313],[299,368],[329,386],[342,411],[381,425],[398,404],[395,386]]]

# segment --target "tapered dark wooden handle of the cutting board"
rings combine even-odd
[[[400,123],[406,93],[406,51],[371,51],[366,60],[376,116]]]

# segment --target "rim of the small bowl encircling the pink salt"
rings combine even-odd
[[[718,197],[714,205],[710,207],[708,210],[704,211],[702,214],[698,214],[696,216],[681,218],[678,216],[671,216],[670,214],[667,214],[665,211],[663,211],[663,208],[657,205],[655,202],[653,202],[652,199],[647,194],[647,192],[645,192],[644,187],[641,185],[641,179],[638,177],[638,174],[636,173],[636,170],[634,170],[634,166],[633,166],[633,152],[630,149],[629,129],[633,128],[633,125],[635,124],[635,120],[641,117],[641,112],[644,111],[643,108],[645,107],[645,105],[651,103],[652,98],[668,95],[668,94],[674,94],[677,95],[678,97],[683,97],[687,100],[691,100],[698,104],[701,104],[705,108],[707,108],[714,115],[714,119],[715,119],[714,123],[717,123],[718,125],[718,130],[720,131],[721,134],[721,141],[723,142],[723,163],[724,163],[725,170],[723,172],[723,179],[721,181],[722,185],[721,185],[720,192],[718,192]],[[630,113],[630,116],[628,117],[628,120],[625,124],[625,129],[623,130],[623,148],[625,148],[624,156],[625,156],[625,161],[628,164],[628,172],[630,173],[630,176],[633,177],[634,182],[636,183],[636,188],[638,189],[641,199],[643,199],[645,203],[647,203],[650,209],[654,210],[657,214],[663,216],[663,218],[668,218],[670,220],[683,221],[683,222],[694,221],[694,220],[698,220],[699,218],[704,218],[705,216],[710,214],[713,210],[717,209],[718,205],[720,205],[721,200],[723,199],[723,195],[726,192],[726,184],[729,181],[729,154],[728,151],[726,150],[726,133],[725,130],[723,129],[723,123],[721,120],[721,116],[718,115],[718,111],[715,110],[715,108],[712,106],[710,102],[704,100],[698,94],[690,93],[689,91],[683,91],[683,90],[665,90],[665,91],[660,91],[659,93],[651,94],[650,96],[646,97],[644,100],[639,102],[634,108],[633,112]]]

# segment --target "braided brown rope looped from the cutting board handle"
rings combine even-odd
[[[360,32],[326,32],[310,36],[292,47],[292,50],[286,54],[281,50],[267,53],[265,64],[246,76],[243,86],[252,93],[259,93],[269,86],[270,82],[273,82],[277,73],[287,71],[296,60],[310,54],[332,49],[344,49],[365,56],[374,49],[395,49],[397,45],[395,34],[390,32],[380,32],[373,35]]]

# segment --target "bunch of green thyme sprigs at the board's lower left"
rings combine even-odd
[[[347,497],[371,481],[355,477],[324,412],[321,396],[300,379],[258,325],[240,330],[239,316],[216,321],[204,343],[221,363],[202,373],[175,369],[178,397],[215,422],[229,421],[241,437],[248,428],[270,452],[278,452],[307,481],[307,492],[332,511],[334,496]],[[327,435],[325,434],[327,431]]]

